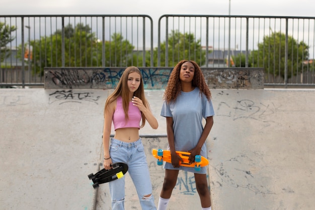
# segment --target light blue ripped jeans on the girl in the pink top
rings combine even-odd
[[[111,138],[109,153],[113,163],[122,162],[128,165],[127,173],[137,190],[142,210],[156,210],[141,138],[132,143]],[[125,177],[109,182],[109,189],[112,197],[112,210],[124,210]]]

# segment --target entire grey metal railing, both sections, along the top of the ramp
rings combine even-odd
[[[0,42],[0,87],[42,86],[45,66],[173,67],[181,59],[264,67],[265,86],[315,87],[315,17],[164,15],[157,33],[147,15],[0,16],[0,23],[12,40]]]

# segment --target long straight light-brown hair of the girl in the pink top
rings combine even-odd
[[[137,68],[135,66],[129,66],[123,72],[114,92],[108,96],[106,103],[105,103],[104,116],[105,116],[105,110],[108,109],[109,104],[111,104],[119,96],[121,96],[122,107],[123,107],[124,112],[125,112],[125,120],[128,121],[128,119],[129,119],[128,108],[129,108],[129,100],[130,99],[129,99],[129,89],[128,89],[127,83],[128,83],[129,74],[133,73],[133,72],[138,73],[140,75],[140,85],[139,85],[139,88],[133,93],[133,96],[136,96],[139,99],[141,99],[143,102],[143,105],[146,108],[149,108],[149,104],[148,104],[148,102],[145,98],[145,94],[144,94],[144,86],[143,86],[143,80],[142,80],[141,72],[140,72],[139,68]],[[143,127],[145,124],[145,116],[142,112],[141,112],[141,116],[142,116],[142,123],[141,123],[140,127]]]

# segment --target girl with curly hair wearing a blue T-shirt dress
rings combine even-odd
[[[195,171],[194,168],[180,166],[183,160],[175,151],[190,152],[190,163],[195,162],[196,155],[207,157],[205,142],[213,125],[213,115],[211,93],[200,67],[191,60],[180,61],[171,73],[161,111],[161,116],[166,117],[172,163],[164,164],[165,178],[157,210],[167,208],[179,170],[194,173],[202,209],[211,210],[207,167]],[[204,126],[203,118],[206,120]]]

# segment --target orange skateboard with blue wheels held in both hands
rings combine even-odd
[[[176,154],[179,155],[182,159],[183,162],[179,163],[180,166],[185,166],[185,167],[194,167],[196,171],[200,171],[200,167],[204,167],[207,166],[209,164],[208,159],[206,159],[203,156],[200,155],[196,155],[195,156],[195,162],[194,163],[189,163],[189,156],[190,153],[188,152],[181,152],[181,151],[176,151]],[[168,163],[172,163],[171,161],[171,151],[169,150],[152,150],[152,155],[154,156],[154,158],[157,159],[157,165],[162,166],[163,165],[163,161],[168,162]]]

